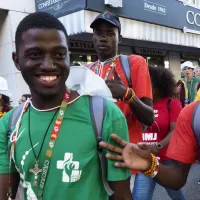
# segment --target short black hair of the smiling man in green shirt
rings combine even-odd
[[[25,31],[34,28],[57,29],[63,31],[66,39],[68,38],[64,25],[56,17],[46,12],[32,13],[26,16],[17,27],[15,34],[16,52],[19,51],[22,34]]]

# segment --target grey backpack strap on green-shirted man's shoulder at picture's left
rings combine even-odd
[[[24,107],[24,103],[20,104],[18,107],[15,108],[15,110],[13,111],[11,117],[10,117],[10,121],[9,121],[9,127],[8,127],[8,137],[10,137],[10,134],[13,131],[14,126],[16,125],[20,114],[22,112],[22,109]]]

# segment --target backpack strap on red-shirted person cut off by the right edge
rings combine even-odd
[[[197,103],[197,105],[194,108],[193,114],[192,114],[192,130],[194,132],[198,147],[200,149],[200,102]]]

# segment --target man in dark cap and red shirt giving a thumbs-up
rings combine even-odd
[[[139,55],[128,57],[130,87],[118,55],[118,45],[122,40],[119,18],[104,11],[94,19],[90,27],[93,29],[93,43],[98,60],[88,67],[106,81],[113,97],[118,99],[116,104],[127,119],[130,141],[138,143],[142,141],[141,123],[151,125],[154,121],[147,63]]]

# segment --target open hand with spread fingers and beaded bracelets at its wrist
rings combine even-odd
[[[148,145],[144,143],[131,144],[115,134],[111,136],[117,144],[122,148],[110,145],[106,142],[100,142],[99,145],[109,151],[118,154],[106,154],[106,157],[111,160],[116,160],[116,167],[128,168],[137,171],[146,171],[151,167],[151,150]]]

